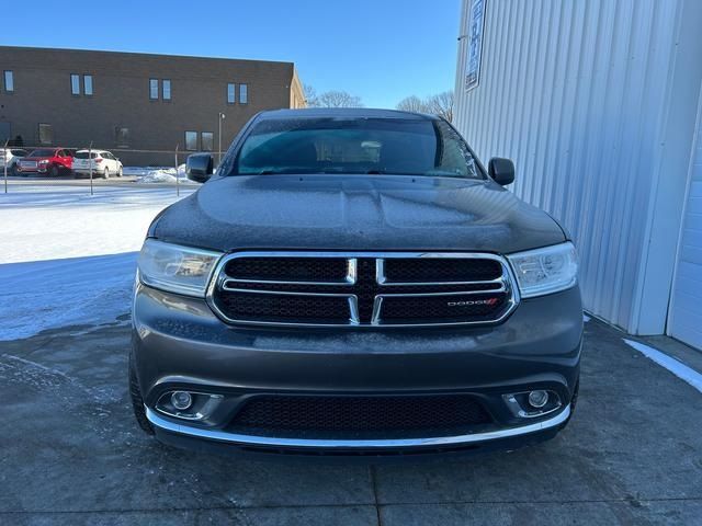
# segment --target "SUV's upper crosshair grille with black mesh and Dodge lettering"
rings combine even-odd
[[[494,254],[241,252],[208,300],[230,323],[378,327],[497,323],[518,298]]]

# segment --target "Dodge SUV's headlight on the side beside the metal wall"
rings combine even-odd
[[[522,298],[565,290],[578,278],[578,258],[573,243],[519,252],[507,258],[517,275]]]

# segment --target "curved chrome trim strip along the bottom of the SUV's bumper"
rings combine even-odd
[[[400,439],[377,439],[377,441],[333,441],[333,439],[310,439],[310,438],[279,438],[254,435],[239,435],[235,433],[226,433],[218,430],[205,430],[201,427],[192,427],[182,425],[169,420],[162,419],[149,408],[146,409],[146,416],[156,427],[171,433],[193,436],[197,438],[206,438],[211,441],[226,442],[242,446],[267,446],[267,447],[296,447],[296,448],[319,448],[319,449],[374,449],[374,448],[404,448],[404,447],[437,447],[461,444],[474,444],[478,442],[497,441],[500,438],[509,438],[513,436],[526,435],[539,431],[545,431],[551,427],[563,424],[570,415],[570,404],[556,414],[555,416],[535,422],[532,424],[520,425],[517,427],[505,427],[497,431],[488,431],[485,433],[473,433],[458,436],[437,436],[428,438],[400,438]]]

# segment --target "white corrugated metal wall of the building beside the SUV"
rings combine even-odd
[[[514,160],[514,193],[561,219],[578,244],[586,308],[632,332],[663,332],[665,323],[667,297],[660,330],[639,327],[638,309],[683,7],[487,0],[480,81],[467,93],[468,38],[458,47],[458,129],[484,162]],[[671,198],[684,193],[680,176]]]

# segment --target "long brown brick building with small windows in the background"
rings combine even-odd
[[[217,151],[261,110],[303,107],[292,62],[0,46],[0,140],[112,150],[125,164]],[[184,156],[183,156],[184,158]]]

